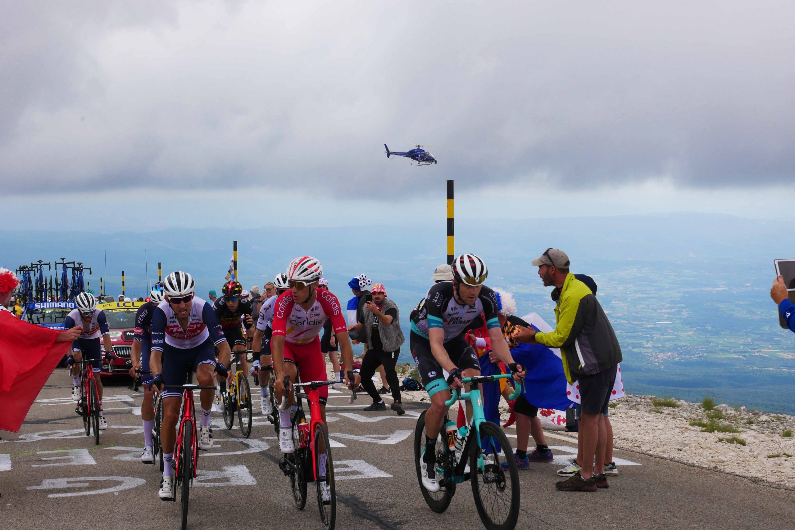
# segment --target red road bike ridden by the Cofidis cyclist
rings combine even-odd
[[[348,372],[348,377],[353,380],[353,373]],[[339,381],[310,381],[308,383],[293,383],[293,387],[308,387],[308,393],[295,390],[298,409],[293,416],[291,430],[298,430],[296,451],[284,455],[279,460],[282,473],[290,478],[290,489],[293,490],[293,502],[297,509],[304,509],[306,505],[306,489],[309,482],[315,482],[317,489],[317,506],[320,509],[320,520],[326,530],[333,530],[337,515],[336,488],[334,485],[334,462],[332,460],[332,446],[328,441],[328,427],[320,416],[321,386],[334,385]],[[285,376],[285,395],[281,399],[281,410],[289,407],[289,376]],[[302,400],[307,400],[310,410],[310,424],[307,424],[304,415]],[[351,390],[353,403],[356,393]],[[278,416],[274,412],[275,416]],[[325,493],[325,495],[324,495]],[[328,497],[328,498],[324,498]]]

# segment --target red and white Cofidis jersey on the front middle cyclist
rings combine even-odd
[[[273,313],[273,336],[283,335],[286,342],[308,344],[323,329],[327,319],[332,320],[334,334],[347,331],[345,317],[339,300],[331,291],[316,289],[316,300],[308,311],[293,300],[293,292],[286,291],[279,295]],[[320,344],[318,345],[320,351]]]

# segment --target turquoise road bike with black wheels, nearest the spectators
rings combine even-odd
[[[455,422],[444,416],[444,429],[436,441],[436,474],[439,475],[440,490],[432,493],[422,486],[420,467],[425,449],[425,413],[417,419],[414,431],[414,464],[417,481],[425,502],[436,513],[443,513],[456,493],[456,485],[466,480],[471,482],[472,496],[480,520],[489,530],[515,528],[519,517],[519,471],[514,451],[498,424],[486,421],[483,415],[483,397],[479,384],[487,381],[507,379],[510,374],[464,377],[461,382],[469,384],[469,392],[454,390],[445,401],[448,407],[456,400],[468,400],[472,404],[472,420],[468,427],[456,428]],[[515,400],[522,393],[523,381],[516,384],[510,395]],[[444,438],[443,438],[444,435]],[[503,470],[507,462],[508,470]]]

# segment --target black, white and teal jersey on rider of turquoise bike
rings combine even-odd
[[[452,281],[440,281],[428,290],[420,309],[413,315],[411,331],[428,339],[429,327],[438,327],[444,330],[444,342],[448,342],[461,335],[481,312],[486,316],[486,327],[499,327],[497,308],[497,296],[485,285],[480,288],[475,304],[467,305],[456,302]]]

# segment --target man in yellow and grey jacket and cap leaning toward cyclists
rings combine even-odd
[[[545,287],[560,289],[555,307],[556,328],[543,333],[532,327],[519,327],[514,338],[560,348],[566,379],[569,383],[580,381],[583,461],[578,462],[581,467],[576,474],[555,486],[562,491],[594,491],[607,487],[604,473],[595,474],[594,470],[604,471],[607,428],[603,414],[608,411],[622,360],[621,346],[591,289],[569,272],[566,253],[549,248],[533,260],[533,266],[538,267]]]

